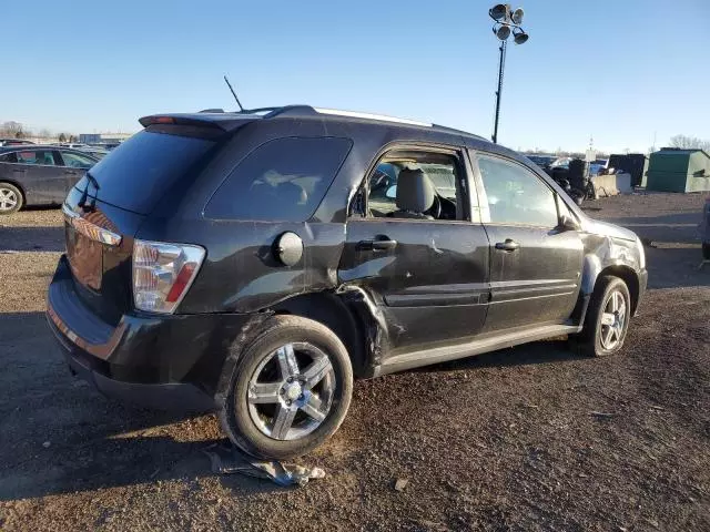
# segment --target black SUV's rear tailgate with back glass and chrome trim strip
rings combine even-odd
[[[133,237],[169,190],[194,180],[224,131],[156,124],[113,150],[63,205],[67,256],[79,297],[116,325],[133,308]]]

